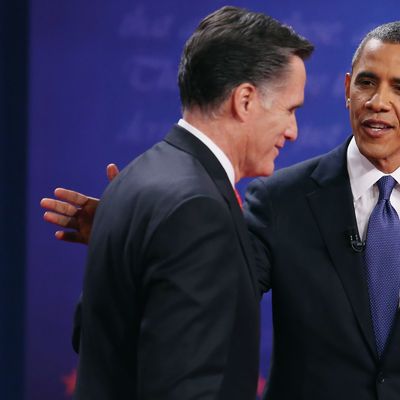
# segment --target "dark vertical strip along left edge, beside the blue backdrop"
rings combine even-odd
[[[0,398],[24,395],[28,1],[0,1]]]

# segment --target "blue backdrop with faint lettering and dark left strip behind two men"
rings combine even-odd
[[[54,239],[40,199],[58,186],[101,196],[107,163],[123,167],[165,135],[180,117],[182,46],[201,18],[226,4],[1,2],[1,399],[69,399],[73,388],[70,333],[86,249]],[[344,140],[351,133],[343,82],[352,53],[372,27],[399,19],[398,0],[228,4],[270,14],[316,45],[299,138],[286,145],[277,167]],[[260,388],[273,340],[270,294],[262,317]]]

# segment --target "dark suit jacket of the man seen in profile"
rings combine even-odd
[[[225,171],[175,126],[112,181],[84,280],[76,398],[255,398],[253,253]]]

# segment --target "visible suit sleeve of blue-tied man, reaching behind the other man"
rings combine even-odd
[[[274,237],[274,214],[267,194],[268,190],[265,188],[264,181],[255,179],[248,186],[244,204],[244,216],[253,245],[261,294],[271,288],[272,273],[271,241]]]

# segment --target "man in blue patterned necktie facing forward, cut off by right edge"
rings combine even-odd
[[[394,219],[385,217],[378,246],[373,211],[380,178],[400,182],[400,22],[360,44],[346,76],[346,106],[353,138],[248,189],[259,282],[272,289],[268,400],[400,398],[398,184],[388,196]],[[378,260],[372,272],[371,251]]]

